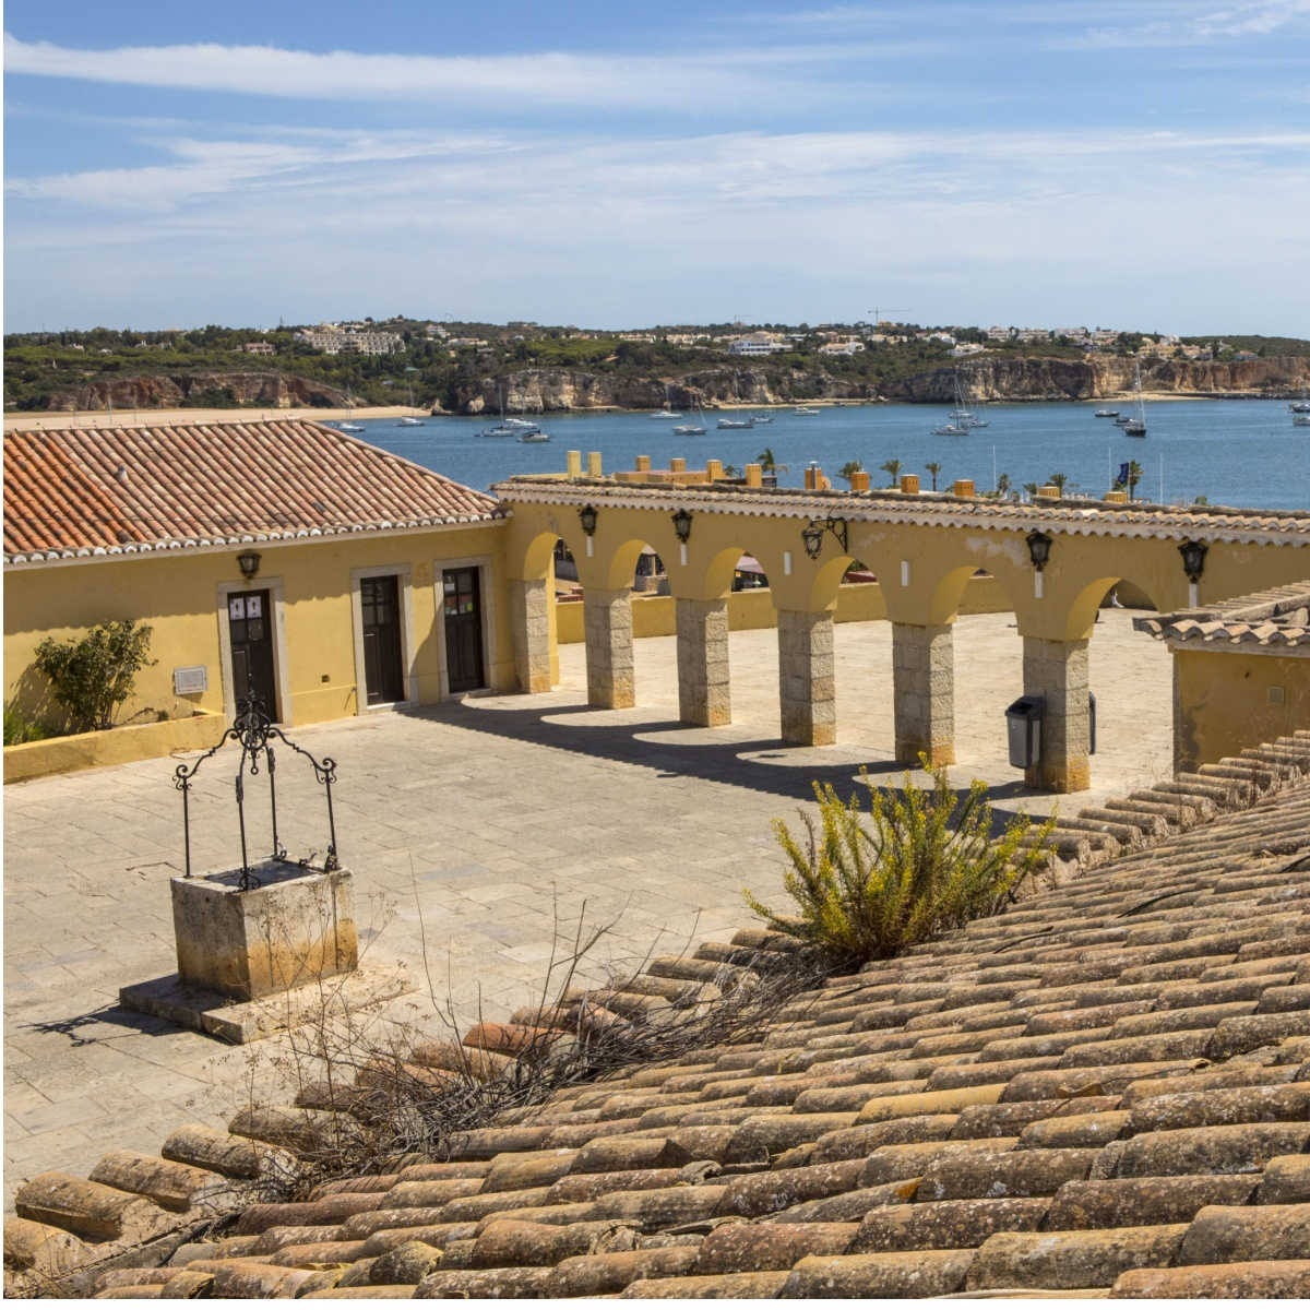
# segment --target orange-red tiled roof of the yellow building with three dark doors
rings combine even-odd
[[[296,419],[4,438],[12,563],[481,523],[481,491]]]

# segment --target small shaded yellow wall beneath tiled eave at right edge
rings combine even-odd
[[[1282,703],[1269,700],[1281,689]],[[1191,770],[1310,728],[1310,658],[1174,652],[1174,764]]]

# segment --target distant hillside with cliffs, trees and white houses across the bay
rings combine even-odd
[[[820,348],[840,333],[806,329],[791,334],[794,348],[741,356],[728,354],[722,341],[686,345],[683,334],[673,334],[677,341],[654,334],[634,341],[521,326],[527,331],[479,325],[468,330],[485,335],[451,341],[422,325],[406,326],[398,333],[402,348],[390,355],[326,355],[296,341],[292,329],[14,335],[5,338],[5,409],[338,407],[413,398],[438,413],[478,414],[495,411],[502,393],[511,413],[655,409],[665,394],[680,406],[941,403],[952,397],[956,371],[973,400],[1110,400],[1132,386],[1138,358],[1151,392],[1280,398],[1310,388],[1310,341],[1296,338],[1191,338],[1216,352],[1212,360],[1184,359],[1170,343],[1158,345],[1158,355],[1145,354],[1153,343],[1129,333],[1094,354],[1062,339],[988,342],[979,354],[954,359],[948,341],[914,335],[918,329],[905,328],[889,341],[870,334],[852,355]],[[952,333],[959,339],[982,335],[977,329]],[[271,354],[248,354],[244,347],[254,342]],[[1134,355],[1137,348],[1144,354]],[[1242,352],[1256,358],[1237,359]]]

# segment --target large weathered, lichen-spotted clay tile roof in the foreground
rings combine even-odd
[[[10,1289],[100,1250],[102,1297],[1307,1296],[1310,732],[1213,768],[1115,811],[1112,862],[448,1159],[204,1235],[232,1179],[331,1129],[339,1089],[310,1087],[33,1179]],[[786,948],[745,930],[593,998],[622,1019]],[[465,1044],[498,1068],[521,1040]]]

